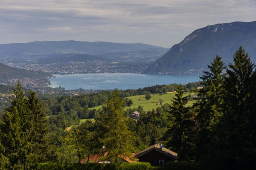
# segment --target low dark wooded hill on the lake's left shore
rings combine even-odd
[[[19,68],[12,68],[0,63],[0,83],[12,84],[11,82],[14,82],[14,79],[46,79],[47,77],[52,77],[52,75],[42,71],[29,71]]]

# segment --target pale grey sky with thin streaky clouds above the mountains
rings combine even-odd
[[[256,0],[0,0],[0,44],[107,41],[162,47],[198,28],[256,20]]]

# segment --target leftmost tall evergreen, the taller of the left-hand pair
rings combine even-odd
[[[18,82],[13,91],[12,106],[5,110],[1,117],[1,142],[5,148],[3,155],[9,159],[10,169],[26,170],[32,159],[32,145],[29,142],[31,122],[25,93]]]

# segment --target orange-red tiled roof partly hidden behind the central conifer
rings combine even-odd
[[[109,163],[108,160],[102,161],[104,160],[104,156],[108,155],[108,151],[103,151],[94,155],[90,155],[89,158],[84,158],[81,159],[81,163],[82,164],[86,164],[86,163]],[[133,160],[132,157],[135,155],[135,153],[133,153],[130,157],[128,156],[123,156],[123,155],[119,155],[118,157],[120,158],[120,162],[137,162],[137,160]]]

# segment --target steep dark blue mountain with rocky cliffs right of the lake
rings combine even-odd
[[[242,45],[256,62],[256,21],[215,24],[197,29],[150,65],[146,74],[201,74],[216,54],[226,64]]]

